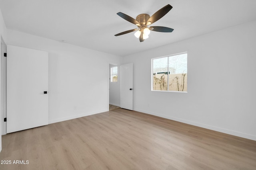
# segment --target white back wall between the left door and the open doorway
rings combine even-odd
[[[49,123],[108,111],[108,64],[120,57],[7,29],[8,45],[49,53]]]

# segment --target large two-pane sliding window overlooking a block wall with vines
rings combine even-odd
[[[152,59],[152,90],[187,92],[187,53]]]

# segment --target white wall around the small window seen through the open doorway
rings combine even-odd
[[[110,68],[117,65],[109,64],[109,72]],[[110,82],[109,80],[109,104],[114,106],[120,106],[120,66],[118,65],[118,80],[117,82]]]

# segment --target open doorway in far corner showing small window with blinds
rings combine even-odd
[[[109,110],[120,107],[120,66],[109,64]]]

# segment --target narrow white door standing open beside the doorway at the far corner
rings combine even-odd
[[[120,66],[120,107],[133,110],[133,64]]]

